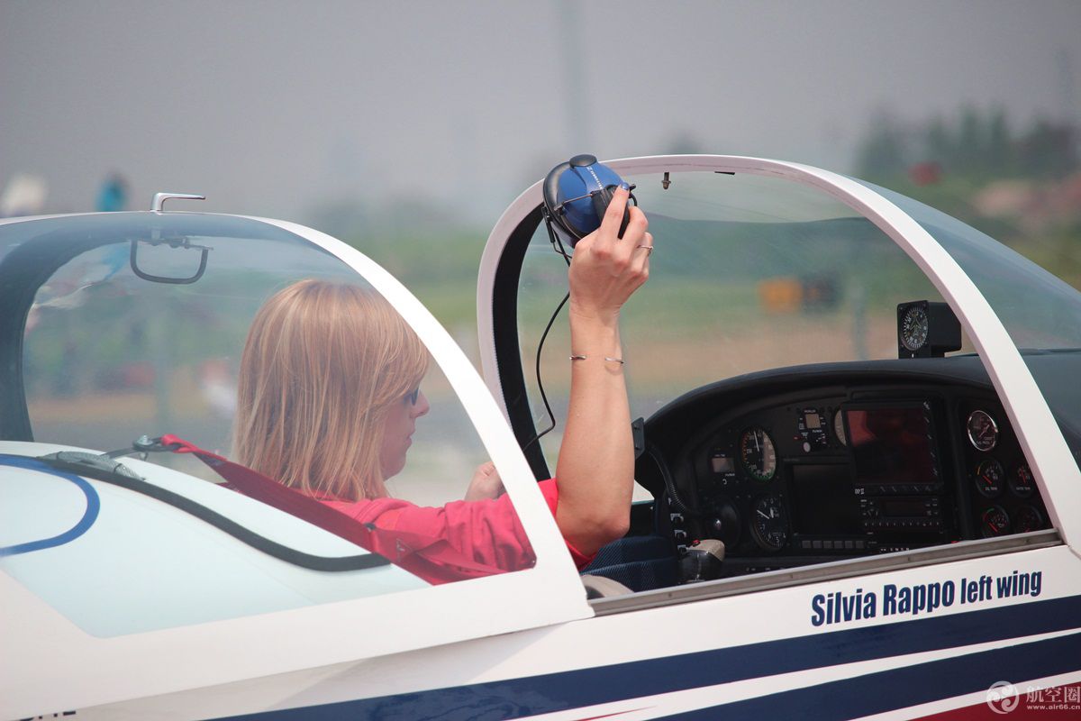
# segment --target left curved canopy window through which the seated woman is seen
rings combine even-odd
[[[356,270],[297,235],[199,214],[3,225],[0,301],[0,564],[88,632],[534,562],[502,485],[475,491],[493,469],[421,339]],[[165,433],[232,464],[132,451]],[[70,467],[37,460],[78,450],[116,451],[125,470],[98,458],[82,473],[95,481],[80,483]],[[233,464],[307,506],[253,500],[263,496]],[[473,500],[498,506],[509,540],[441,543],[440,512],[449,528],[489,518]],[[368,531],[343,536],[312,506]],[[378,525],[391,510],[397,535]],[[357,561],[373,552],[396,565]]]

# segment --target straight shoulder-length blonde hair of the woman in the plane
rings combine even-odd
[[[382,295],[294,283],[259,308],[248,333],[233,455],[305,493],[386,496],[384,423],[427,369],[424,345]]]

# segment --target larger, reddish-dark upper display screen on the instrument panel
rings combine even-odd
[[[857,483],[938,482],[924,409],[848,409],[844,414]]]

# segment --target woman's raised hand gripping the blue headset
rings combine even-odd
[[[630,205],[630,222],[618,237],[623,211],[630,190],[616,188],[601,222],[601,227],[578,241],[569,273],[571,315],[611,321],[619,307],[650,277],[653,236],[649,222],[637,205]]]

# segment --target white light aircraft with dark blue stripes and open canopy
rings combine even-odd
[[[1081,295],[827,171],[610,164],[656,252],[624,312],[640,500],[584,576],[535,486],[570,372],[539,184],[481,261],[486,387],[318,231],[160,203],[0,224],[0,716],[940,719],[1076,689]],[[381,294],[431,353],[396,495],[461,497],[491,458],[532,565],[428,585],[133,443],[227,455],[252,317],[303,278]]]

